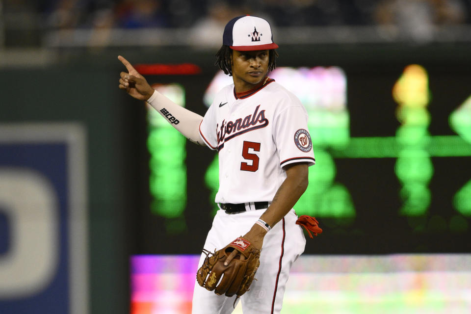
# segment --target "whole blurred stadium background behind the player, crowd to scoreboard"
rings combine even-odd
[[[282,313],[469,313],[470,0],[2,0],[1,314],[190,313],[217,154],[120,91],[117,56],[204,115],[245,14],[316,156],[295,209],[324,233]]]

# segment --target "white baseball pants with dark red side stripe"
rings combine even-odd
[[[219,250],[236,237],[245,235],[266,209],[226,214],[218,210],[209,230],[204,248],[210,252]],[[291,209],[263,240],[260,267],[250,290],[239,300],[244,314],[279,314],[283,304],[289,269],[304,252],[306,239],[302,227],[296,225],[298,217]],[[206,255],[202,254],[198,267]],[[230,314],[234,311],[233,297],[217,295],[200,287],[195,281],[192,314]]]

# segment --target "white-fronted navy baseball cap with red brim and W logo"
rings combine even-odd
[[[262,18],[250,15],[238,16],[224,28],[222,44],[236,51],[276,49],[270,24]]]

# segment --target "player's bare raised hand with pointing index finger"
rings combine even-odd
[[[118,59],[128,70],[128,73],[120,73],[119,89],[126,90],[126,92],[135,99],[147,101],[152,94],[154,94],[154,89],[149,85],[147,80],[134,69],[128,60],[121,55],[118,56]]]

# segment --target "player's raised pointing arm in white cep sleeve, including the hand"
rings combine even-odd
[[[119,89],[126,90],[135,99],[146,101],[191,142],[206,146],[199,132],[202,116],[175,104],[157,92],[128,60],[121,55],[118,59],[128,70],[128,73],[120,73]]]

